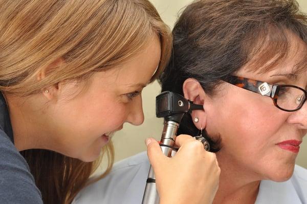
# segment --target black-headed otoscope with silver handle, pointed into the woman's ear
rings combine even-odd
[[[174,144],[179,124],[183,115],[191,113],[192,110],[204,109],[202,105],[193,104],[193,101],[170,91],[164,91],[156,97],[156,115],[157,117],[164,117],[164,127],[160,140],[164,155],[171,157],[172,151],[176,151]],[[142,204],[159,204],[159,201],[155,173],[150,166]]]

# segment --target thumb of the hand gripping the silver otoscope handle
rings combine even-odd
[[[164,154],[162,153],[161,147],[156,139],[147,138],[145,140],[145,144],[147,146],[147,156],[149,162],[153,168],[158,165],[159,161],[161,162],[164,158]]]

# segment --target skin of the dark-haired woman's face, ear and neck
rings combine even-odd
[[[247,64],[235,75],[306,89],[307,72],[294,73],[306,48],[296,36],[291,39],[290,55],[282,64],[262,74],[251,71]],[[260,180],[285,181],[292,176],[297,153],[276,144],[302,141],[307,133],[306,103],[296,112],[285,112],[276,108],[271,98],[228,83],[209,96],[192,78],[185,81],[183,90],[185,97],[204,104],[205,111],[192,113],[192,118],[200,118],[195,126],[205,128],[213,138],[222,138],[222,149],[216,153],[220,185],[213,203],[254,203]]]

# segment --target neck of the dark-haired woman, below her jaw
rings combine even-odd
[[[225,157],[223,153],[216,153],[221,168],[220,183],[213,203],[255,203],[260,180],[248,173],[242,167]]]

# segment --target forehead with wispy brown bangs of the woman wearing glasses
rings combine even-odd
[[[268,33],[251,51],[249,62],[239,72],[257,74],[287,72],[300,74],[307,70],[307,46],[291,31]]]

